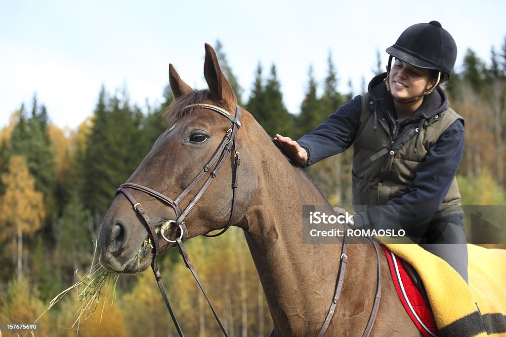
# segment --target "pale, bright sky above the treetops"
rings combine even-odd
[[[76,128],[93,114],[102,85],[126,88],[147,110],[162,102],[168,65],[193,88],[203,78],[204,43],[223,45],[247,101],[257,66],[276,66],[283,101],[298,113],[310,66],[322,83],[327,58],[339,90],[362,93],[385,49],[404,29],[439,21],[454,37],[455,70],[472,49],[489,63],[506,38],[506,2],[399,1],[0,1],[0,128],[34,93],[50,121]],[[338,107],[336,107],[338,108]],[[329,112],[330,114],[331,112]]]

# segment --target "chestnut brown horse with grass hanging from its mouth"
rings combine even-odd
[[[203,103],[230,112],[236,109],[237,99],[214,50],[206,44],[205,51],[204,75],[209,89],[194,91],[171,65],[170,83],[176,100],[166,116],[170,126],[128,179],[128,183],[149,187],[172,198],[171,201],[199,174],[230,128],[230,120],[222,114],[201,107],[185,107]],[[226,156],[223,168],[201,198],[197,191],[203,182],[198,182],[195,189],[178,200],[186,206],[195,197],[200,198],[184,219],[187,237],[222,229],[227,224],[242,228],[276,335],[316,336],[332,301],[342,245],[304,244],[302,206],[328,203],[305,173],[274,146],[258,122],[247,111],[241,113],[242,127],[235,139],[241,156],[236,195],[230,188],[234,174],[232,153]],[[153,227],[180,216],[174,207],[167,207],[152,195],[134,189],[131,192],[149,214]],[[131,202],[118,194],[100,228],[104,268],[135,273],[149,267],[153,251],[145,249],[150,234],[142,221]],[[179,235],[182,233],[177,225],[165,232],[166,237],[173,239]],[[159,252],[174,245],[160,240]],[[373,307],[377,278],[374,247],[365,241],[348,247],[341,298],[327,336],[362,335]],[[140,265],[138,255],[143,258]],[[384,282],[371,334],[419,336],[398,299],[391,277],[387,277],[389,270],[383,253],[380,262]]]

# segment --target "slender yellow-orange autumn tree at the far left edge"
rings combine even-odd
[[[32,235],[45,217],[43,194],[35,189],[22,156],[9,159],[9,171],[2,175],[5,194],[0,198],[0,241],[11,239],[16,246],[18,280],[23,275],[23,235]]]

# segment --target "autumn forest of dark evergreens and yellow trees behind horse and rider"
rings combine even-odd
[[[297,139],[362,93],[353,92],[351,85],[349,92],[338,91],[339,69],[329,54],[324,78],[315,78],[309,66],[305,97],[300,111],[292,114],[283,103],[274,64],[265,69],[259,63],[252,70],[255,80],[249,97],[243,97],[219,41],[215,50],[239,104],[271,136]],[[506,38],[500,50],[492,47],[489,60],[471,49],[462,55],[461,69],[445,84],[452,108],[466,121],[465,153],[457,173],[462,205],[504,206]],[[382,67],[377,68],[380,72]],[[130,102],[128,89],[108,92],[101,87],[94,111],[77,129],[52,123],[44,98],[36,93],[30,105],[2,112],[12,116],[0,131],[0,322],[33,322],[97,262],[98,228],[116,188],[165,129],[160,113],[174,98],[168,85],[160,89],[161,104],[139,107]],[[351,156],[346,151],[306,169],[332,205],[351,205]],[[501,243],[487,246],[506,248]],[[230,335],[268,335],[273,327],[269,308],[241,230],[194,238],[187,250]],[[219,335],[178,252],[165,253],[158,265],[183,331]],[[108,282],[96,309],[74,324],[80,305],[72,290],[39,318],[35,335],[73,336],[77,326],[83,337],[177,335],[149,270]]]

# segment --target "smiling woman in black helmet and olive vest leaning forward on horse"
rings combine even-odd
[[[464,121],[441,87],[455,64],[455,41],[431,21],[408,27],[386,51],[387,72],[371,80],[367,93],[298,141],[278,134],[274,142],[303,167],[353,144],[353,204],[361,210],[353,217],[355,226],[401,226],[468,282],[455,179]]]

